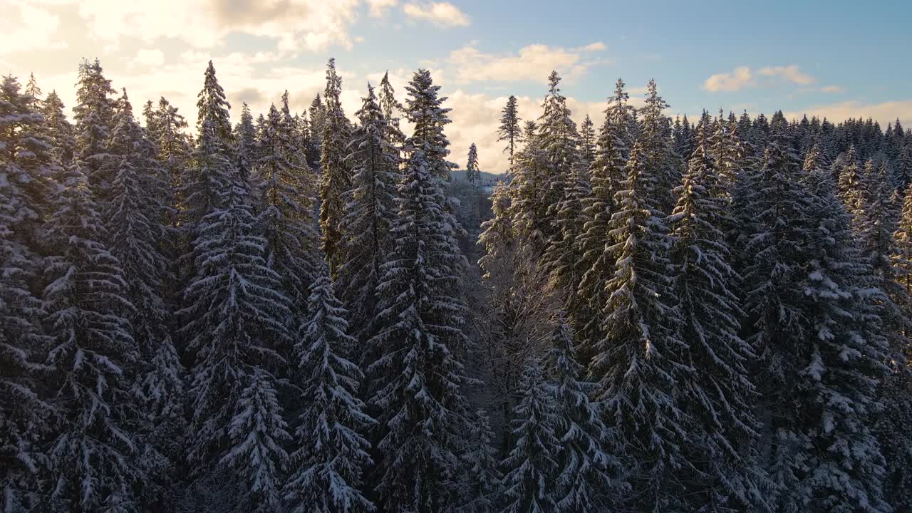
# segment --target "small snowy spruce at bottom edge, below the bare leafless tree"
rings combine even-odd
[[[520,385],[522,399],[513,409],[510,454],[504,458],[503,513],[561,511],[554,500],[557,477],[554,394],[538,361],[529,361]]]

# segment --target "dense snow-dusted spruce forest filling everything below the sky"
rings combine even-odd
[[[201,82],[2,79],[0,511],[912,510],[899,120]]]

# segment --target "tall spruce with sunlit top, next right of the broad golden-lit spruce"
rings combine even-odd
[[[722,226],[731,226],[717,161],[710,156],[712,130],[697,128],[695,149],[668,216],[672,249],[672,297],[680,316],[679,338],[687,345],[687,372],[679,372],[679,404],[692,424],[683,509],[743,511],[765,508],[762,472],[756,461],[754,386],[748,369],[751,347],[739,336],[741,277],[729,264]],[[696,472],[693,472],[696,470]],[[758,482],[760,481],[760,482]]]

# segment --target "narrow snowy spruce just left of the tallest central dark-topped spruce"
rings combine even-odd
[[[346,159],[352,169],[351,201],[342,222],[349,247],[335,286],[351,316],[351,332],[365,340],[362,335],[367,335],[377,307],[380,267],[393,246],[399,150],[389,142],[396,137],[390,134],[394,127],[390,127],[370,84],[356,115],[360,124],[352,135]]]

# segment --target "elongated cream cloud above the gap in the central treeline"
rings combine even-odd
[[[515,54],[485,54],[476,47],[453,50],[447,58],[456,67],[460,81],[534,80],[545,82],[556,69],[565,79],[578,79],[599,61],[585,61],[579,51],[546,45],[530,45]]]

